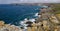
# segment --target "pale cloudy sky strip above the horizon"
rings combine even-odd
[[[60,0],[0,0],[0,4],[10,3],[59,3]]]

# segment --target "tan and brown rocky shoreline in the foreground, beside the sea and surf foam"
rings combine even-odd
[[[43,7],[34,21],[25,19],[22,27],[0,21],[0,31],[60,31],[60,21],[52,13],[51,7]]]

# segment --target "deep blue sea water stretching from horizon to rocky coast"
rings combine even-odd
[[[0,4],[0,20],[6,24],[20,25],[25,18],[36,18],[41,6]]]

